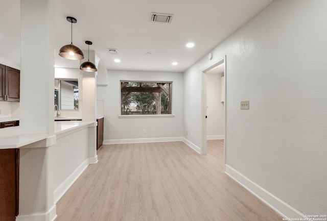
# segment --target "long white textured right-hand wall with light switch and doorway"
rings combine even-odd
[[[201,71],[226,55],[226,168],[285,215],[326,213],[326,11],[322,0],[274,1],[184,72],[184,133],[200,134]]]

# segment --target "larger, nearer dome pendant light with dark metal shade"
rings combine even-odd
[[[76,18],[67,17],[67,21],[72,23],[72,41],[71,44],[64,45],[59,50],[59,55],[63,58],[71,60],[81,60],[84,58],[83,52],[73,44],[73,23],[76,23]]]

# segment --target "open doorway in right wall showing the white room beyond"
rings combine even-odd
[[[225,159],[226,58],[202,71],[201,154],[218,146]]]

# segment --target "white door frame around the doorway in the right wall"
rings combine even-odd
[[[218,62],[216,62],[213,65],[207,66],[206,68],[204,68],[202,70],[202,116],[201,116],[201,155],[206,155],[207,153],[207,149],[206,149],[206,137],[207,137],[207,131],[206,131],[206,116],[207,116],[207,100],[206,100],[206,96],[207,96],[207,79],[206,79],[206,72],[208,70],[211,70],[221,64],[225,64],[224,67],[224,85],[225,85],[225,96],[224,96],[224,161],[225,161],[225,157],[226,157],[226,55],[222,58],[219,59]],[[225,162],[224,162],[225,165]],[[225,167],[225,166],[224,166]],[[225,170],[225,168],[224,168]]]

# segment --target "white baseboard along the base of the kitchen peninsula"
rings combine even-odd
[[[57,187],[53,193],[54,202],[57,204],[57,202],[60,200],[60,198],[65,194],[65,192],[73,185],[73,183],[81,176],[83,171],[86,169],[86,167],[89,164],[89,159],[84,160],[84,162],[75,169],[73,174],[69,176],[59,187]]]

